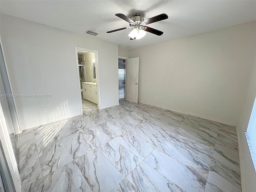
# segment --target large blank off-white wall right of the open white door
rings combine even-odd
[[[254,38],[250,22],[129,50],[129,58],[140,58],[139,102],[236,125]]]

